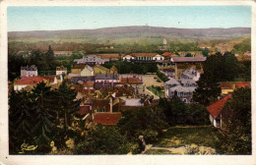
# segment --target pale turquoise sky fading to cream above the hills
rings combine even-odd
[[[8,31],[251,27],[251,6],[8,7]]]

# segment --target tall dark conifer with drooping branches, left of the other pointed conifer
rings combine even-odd
[[[50,141],[57,133],[56,113],[51,109],[54,99],[50,88],[43,82],[32,88],[32,136],[38,144],[37,152],[42,153],[50,151]]]

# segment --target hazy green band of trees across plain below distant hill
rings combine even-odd
[[[220,43],[227,43],[228,40],[211,40],[208,45],[215,47]],[[202,43],[205,43],[202,41]],[[206,42],[207,43],[207,42]],[[55,41],[37,41],[37,42],[24,42],[24,41],[9,41],[8,47],[16,51],[32,51],[33,49],[40,49],[46,51],[48,46],[51,45],[54,51],[85,51],[87,54],[91,53],[120,53],[120,54],[130,54],[134,52],[144,53],[144,52],[153,52],[153,53],[163,53],[159,50],[159,46],[162,45],[151,43],[90,43],[90,42],[55,42]],[[179,51],[203,51],[198,41],[171,41],[169,42],[169,51],[177,53]],[[113,49],[110,49],[110,46],[113,46]],[[218,51],[218,50],[217,50]],[[234,44],[232,53],[245,53],[251,51],[251,39],[244,39],[242,42]]]

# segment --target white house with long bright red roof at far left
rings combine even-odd
[[[36,83],[47,82],[41,77],[25,77],[14,82],[14,90],[21,90],[29,85],[33,86]]]

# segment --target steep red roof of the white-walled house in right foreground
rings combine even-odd
[[[216,119],[219,117],[220,112],[224,108],[224,104],[226,103],[227,99],[231,97],[231,94],[225,96],[223,99],[209,105],[207,107],[208,112]]]

